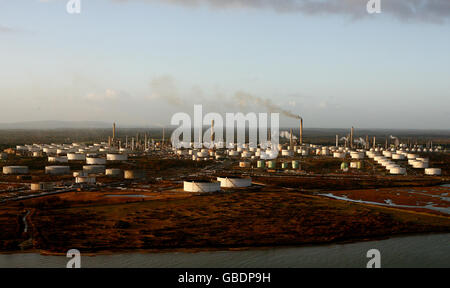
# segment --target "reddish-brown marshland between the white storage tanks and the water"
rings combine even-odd
[[[65,252],[136,249],[233,248],[329,243],[393,234],[450,232],[450,217],[336,201],[299,192],[255,187],[213,195],[142,192],[145,199],[67,193],[15,203],[0,225],[33,248]],[[141,192],[139,193],[141,194]],[[31,210],[30,233],[18,217]],[[8,225],[4,226],[5,224]],[[12,224],[14,223],[14,225]],[[2,236],[3,237],[3,236]]]

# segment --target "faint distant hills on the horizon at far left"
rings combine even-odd
[[[9,129],[94,129],[111,128],[112,123],[101,121],[28,121],[0,123],[1,130]]]

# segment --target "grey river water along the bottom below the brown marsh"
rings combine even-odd
[[[198,253],[129,253],[100,256],[81,255],[81,266],[114,268],[364,268],[366,253],[378,249],[381,267],[450,268],[450,234],[394,237],[386,240],[323,246],[269,248],[248,251]],[[81,251],[82,254],[83,251]],[[63,256],[35,253],[0,255],[0,268],[64,268]]]

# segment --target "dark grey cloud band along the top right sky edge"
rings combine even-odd
[[[127,3],[136,0],[110,0]],[[369,0],[138,0],[140,2],[163,2],[189,7],[208,6],[213,9],[265,9],[279,13],[302,13],[308,15],[338,14],[352,18],[367,16]],[[381,0],[382,12],[401,20],[439,22],[449,20],[449,0]]]

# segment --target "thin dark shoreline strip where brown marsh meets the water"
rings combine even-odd
[[[96,257],[96,256],[114,256],[114,255],[124,255],[124,254],[164,254],[164,253],[202,253],[202,252],[239,252],[239,251],[251,251],[251,250],[269,250],[269,249],[287,249],[287,248],[306,248],[306,247],[323,247],[323,246],[331,246],[331,245],[345,245],[345,244],[355,244],[355,243],[363,243],[363,242],[372,242],[372,241],[383,241],[394,238],[406,238],[406,237],[417,237],[417,236],[428,236],[428,235],[449,235],[450,231],[442,232],[425,232],[425,233],[416,233],[416,232],[405,232],[399,233],[390,236],[379,236],[379,237],[371,237],[371,238],[360,238],[360,239],[348,239],[342,241],[330,241],[330,242],[317,242],[317,243],[304,243],[298,245],[269,245],[269,246],[242,246],[242,247],[198,247],[198,248],[168,248],[168,249],[125,249],[125,250],[104,250],[100,252],[86,252],[82,253],[83,256],[87,257]],[[66,253],[61,252],[51,252],[46,250],[17,250],[17,251],[0,251],[0,255],[19,255],[19,254],[39,254],[41,256],[59,256],[65,257]]]

